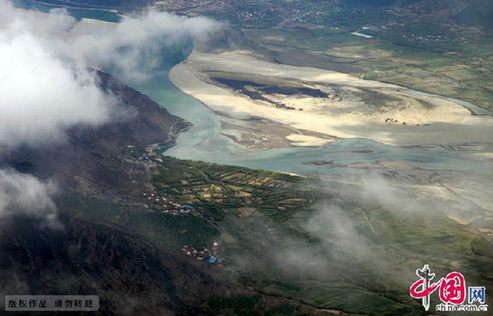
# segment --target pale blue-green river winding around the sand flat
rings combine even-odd
[[[41,11],[53,8],[33,1],[17,1],[16,4]],[[108,10],[70,8],[68,11],[77,18],[105,21],[119,19],[118,14]],[[220,118],[215,113],[198,100],[181,92],[168,79],[168,71],[187,57],[187,53],[191,51],[190,47],[185,51],[185,54],[167,54],[168,57],[163,60],[161,69],[150,74],[149,80],[138,83],[127,82],[128,85],[165,106],[172,114],[193,124],[192,128],[179,135],[176,146],[166,151],[165,154],[168,156],[306,175],[360,172],[360,169],[348,168],[347,165],[377,161],[405,161],[415,167],[428,170],[482,172],[491,169],[491,165],[487,162],[478,160],[471,162],[468,151],[441,146],[396,147],[368,139],[339,140],[319,148],[247,150],[221,134]],[[173,57],[169,58],[169,56]],[[106,71],[111,73],[111,70],[106,69]],[[478,114],[486,114],[479,108],[474,110],[477,110]]]

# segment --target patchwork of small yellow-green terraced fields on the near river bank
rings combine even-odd
[[[207,215],[215,219],[225,213],[248,213],[255,209],[282,221],[309,208],[317,198],[316,193],[302,185],[302,179],[166,157],[152,183],[158,192],[207,210]]]

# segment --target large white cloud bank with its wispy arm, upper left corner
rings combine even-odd
[[[43,14],[0,0],[0,148],[60,141],[72,126],[115,119],[113,98],[98,88],[88,67],[113,67],[126,78],[143,79],[166,47],[219,27],[206,18],[154,11],[109,27],[87,24],[64,10]]]

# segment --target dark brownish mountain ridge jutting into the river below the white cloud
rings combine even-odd
[[[40,178],[54,178],[60,185],[81,193],[128,192],[138,187],[136,182],[142,184],[145,169],[130,166],[120,157],[122,151],[128,145],[172,146],[176,135],[189,123],[110,76],[98,75],[101,87],[119,100],[119,108],[130,113],[129,118],[100,128],[72,128],[66,142],[39,148],[23,147],[0,157],[0,166],[7,165]]]

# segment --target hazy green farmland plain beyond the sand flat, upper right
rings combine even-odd
[[[316,26],[239,27],[243,27],[247,49],[270,54],[281,63],[348,72],[493,110],[492,34],[396,17],[369,7],[358,14],[351,7],[325,14],[327,18]],[[353,36],[353,31],[374,37]]]

